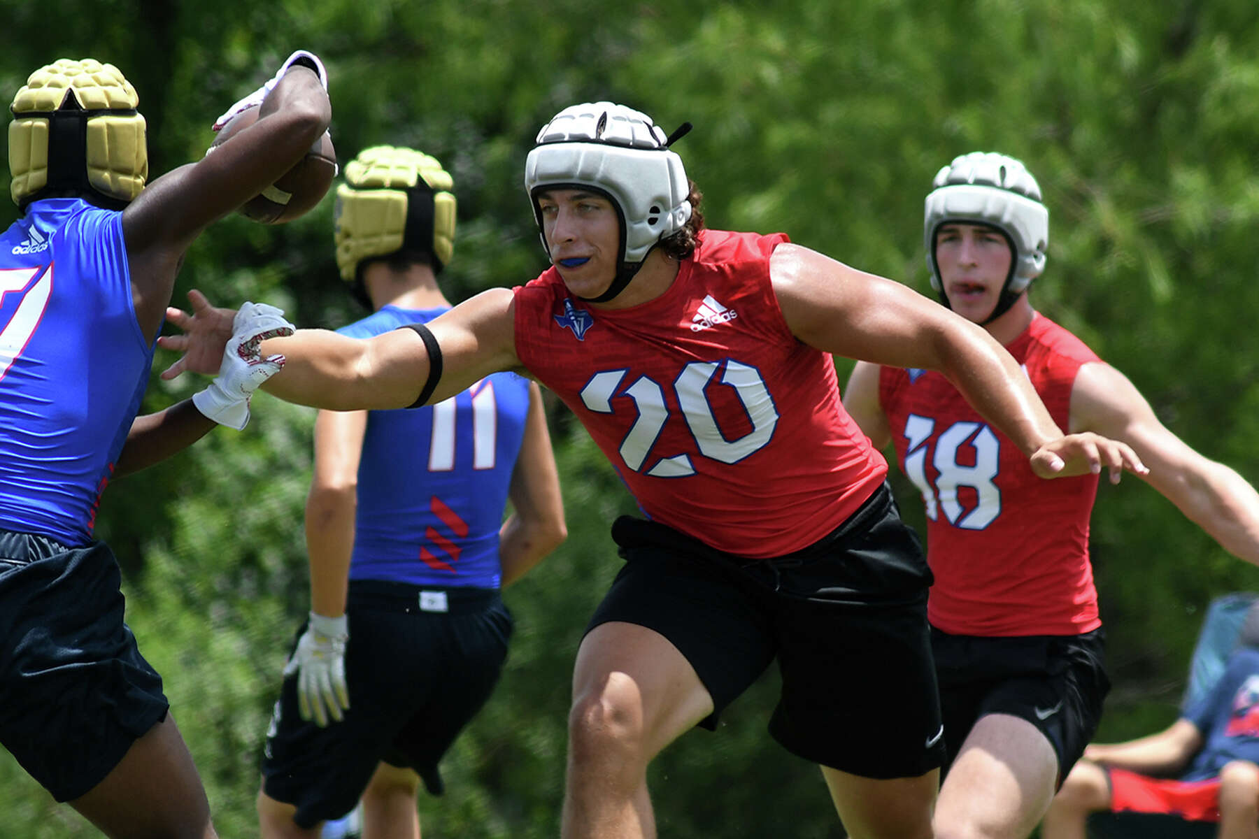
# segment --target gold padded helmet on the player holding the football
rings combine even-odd
[[[140,195],[149,151],[138,104],[113,64],[62,58],[31,73],[9,106],[14,203],[91,191],[118,206]]]

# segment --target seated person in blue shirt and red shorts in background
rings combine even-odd
[[[1042,839],[1083,839],[1090,813],[1166,813],[1259,836],[1259,605],[1215,687],[1168,728],[1090,743],[1041,823]]]

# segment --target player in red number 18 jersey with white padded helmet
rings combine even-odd
[[[1054,421],[1132,447],[1142,478],[1259,562],[1259,494],[1167,430],[1137,389],[1027,297],[1049,210],[1024,165],[973,152],[935,176],[924,236],[940,301],[1021,365]],[[938,836],[1026,836],[1097,730],[1109,689],[1089,562],[1097,477],[1046,483],[939,371],[859,362],[844,405],[895,444],[927,504],[928,603],[948,764]]]

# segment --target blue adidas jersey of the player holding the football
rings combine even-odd
[[[72,547],[92,540],[152,353],[122,213],[31,204],[0,236],[0,527]]]

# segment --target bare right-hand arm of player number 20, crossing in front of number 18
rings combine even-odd
[[[797,338],[835,355],[938,370],[988,423],[1027,454],[1042,478],[1144,467],[1127,445],[1064,436],[1013,357],[982,327],[900,283],[798,245],[771,258],[774,292]]]

